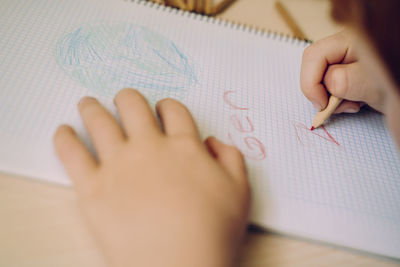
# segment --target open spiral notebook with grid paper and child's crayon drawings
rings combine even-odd
[[[174,97],[202,135],[238,146],[251,222],[400,258],[400,157],[382,115],[363,110],[309,131],[299,88],[308,43],[150,2],[6,0],[0,6],[0,170],[70,184],[52,136],[90,146],[82,96],[115,112],[124,87]],[[156,167],[156,166],[155,166]]]

